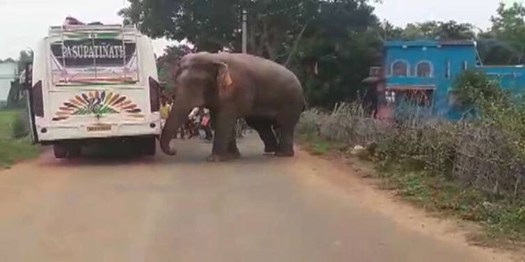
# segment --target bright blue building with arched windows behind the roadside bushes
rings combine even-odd
[[[382,67],[373,67],[366,82],[378,91],[378,116],[389,118],[396,101],[410,100],[434,115],[458,119],[451,88],[460,73],[478,69],[501,83],[502,88],[525,86],[525,67],[485,67],[474,41],[393,41],[383,49]]]

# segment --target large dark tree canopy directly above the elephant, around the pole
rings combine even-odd
[[[188,40],[198,51],[241,49],[241,10],[248,10],[250,53],[289,60],[297,37],[305,32],[320,1],[302,0],[129,0],[120,11],[152,37]],[[286,51],[285,51],[286,50]]]

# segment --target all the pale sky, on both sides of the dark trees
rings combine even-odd
[[[414,21],[451,20],[469,22],[478,28],[490,26],[501,0],[382,0],[374,3],[375,13],[396,26]],[[508,3],[522,0],[503,0]],[[21,50],[35,46],[51,25],[60,25],[67,16],[81,21],[121,23],[117,15],[126,0],[0,0],[0,59],[18,58]],[[154,40],[161,55],[166,40]]]

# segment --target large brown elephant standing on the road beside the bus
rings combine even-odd
[[[241,156],[234,135],[241,118],[259,133],[266,154],[293,157],[293,132],[306,103],[300,81],[286,67],[255,55],[200,52],[181,58],[174,78],[175,103],[160,137],[165,154],[176,155],[170,141],[188,113],[206,107],[215,130],[208,161]]]

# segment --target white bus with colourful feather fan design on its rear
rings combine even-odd
[[[28,107],[35,143],[57,158],[98,141],[154,155],[160,87],[150,39],[134,26],[56,26],[35,49]]]

